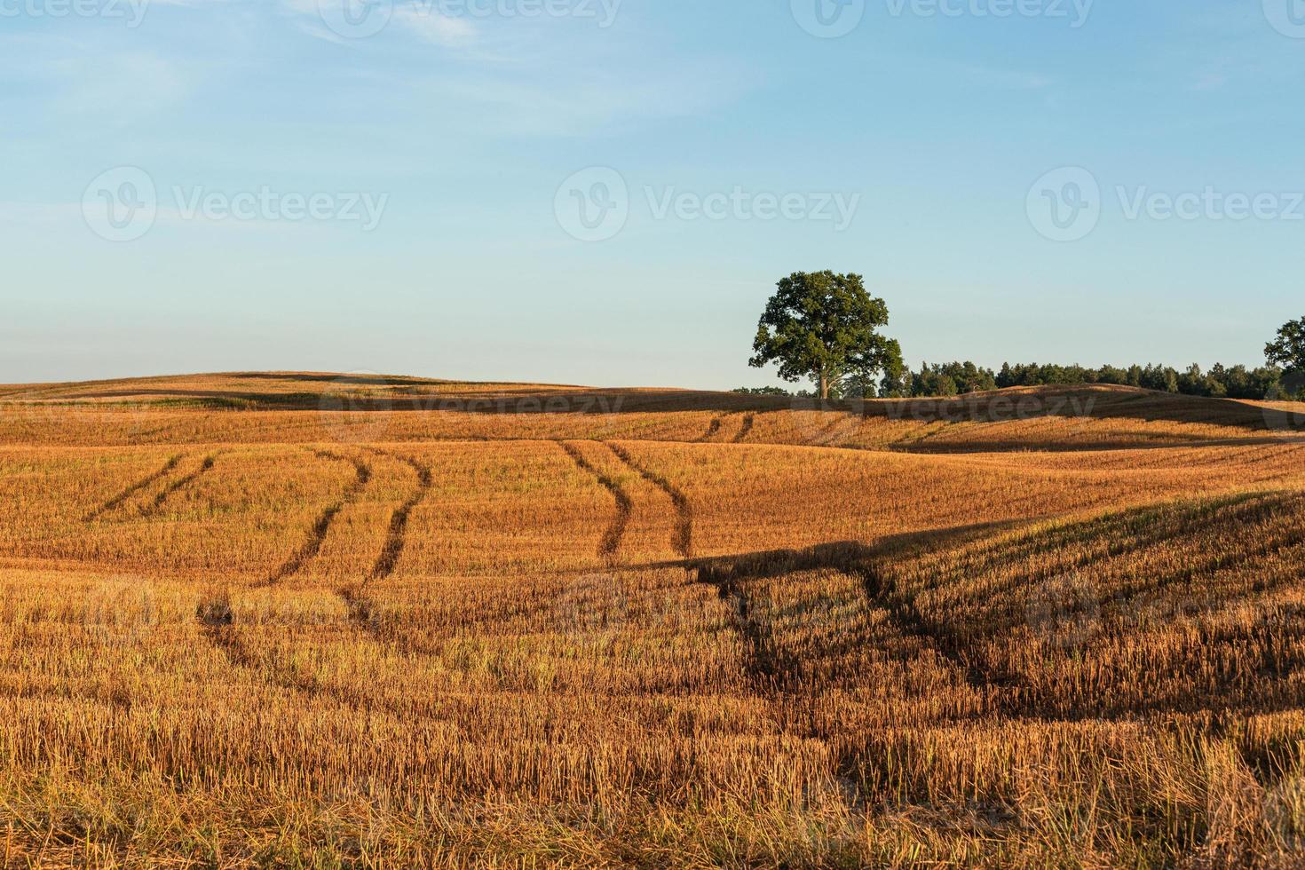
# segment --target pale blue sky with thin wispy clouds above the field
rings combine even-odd
[[[818,269],[914,365],[1305,314],[1300,0],[373,1],[0,0],[0,381],[763,385]]]

